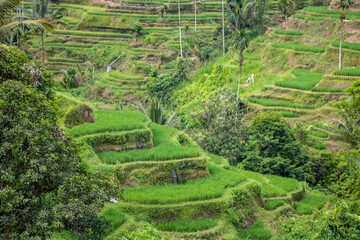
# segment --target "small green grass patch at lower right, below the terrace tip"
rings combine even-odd
[[[312,214],[316,209],[321,208],[326,202],[324,194],[312,194],[305,199],[294,202],[294,208],[297,214]]]

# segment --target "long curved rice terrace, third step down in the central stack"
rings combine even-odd
[[[225,188],[233,187],[245,177],[236,170],[225,170],[208,163],[210,177],[187,181],[186,184],[124,189],[124,200],[145,204],[169,204],[217,198]]]

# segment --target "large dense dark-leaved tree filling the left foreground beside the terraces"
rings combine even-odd
[[[22,53],[2,50],[8,58],[2,55],[1,63],[10,70],[0,74],[0,238],[48,238],[61,229],[101,237],[106,222],[97,213],[107,196],[56,126],[51,81],[34,82],[34,74],[48,73],[28,71]]]

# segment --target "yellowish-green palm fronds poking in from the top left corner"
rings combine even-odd
[[[53,26],[45,19],[13,21],[7,23],[7,19],[11,18],[11,11],[18,7],[19,4],[19,0],[0,0],[0,33],[2,36],[8,32],[17,30],[17,28],[21,25],[43,31],[53,29]]]

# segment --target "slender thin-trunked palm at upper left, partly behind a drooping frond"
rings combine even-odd
[[[47,21],[52,28],[55,24],[65,24],[60,19],[62,18],[62,9],[51,11],[50,0],[33,0],[31,5],[31,19],[39,21]],[[45,48],[44,48],[44,33],[45,29],[40,29],[41,34],[41,60],[45,62]]]

